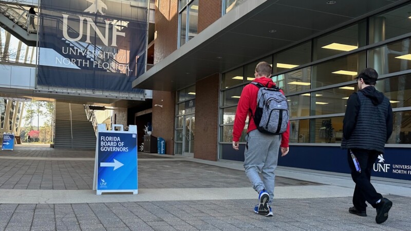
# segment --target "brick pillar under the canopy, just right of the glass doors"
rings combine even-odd
[[[194,158],[217,160],[219,74],[196,83]]]

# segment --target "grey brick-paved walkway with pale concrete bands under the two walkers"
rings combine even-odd
[[[348,175],[279,167],[270,218],[253,213],[257,194],[241,163],[148,153],[138,161],[138,195],[97,196],[93,150],[0,151],[0,229],[411,230],[411,182],[374,182],[394,203],[379,225],[370,206],[368,217],[348,213]]]

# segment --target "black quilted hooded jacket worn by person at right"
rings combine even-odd
[[[359,94],[361,94],[361,96],[359,96]],[[363,99],[363,103],[361,103],[360,98]],[[361,109],[362,104],[364,105]],[[384,110],[384,115],[379,115],[379,117],[385,116],[385,118],[376,118],[376,114],[368,110],[375,106],[380,108],[380,110]],[[360,112],[361,118],[359,118]],[[362,124],[358,124],[359,119],[362,120]],[[380,127],[383,126],[385,134],[381,134],[381,132],[377,130],[378,125]],[[344,139],[341,145],[342,148],[363,148],[383,152],[384,144],[381,144],[379,140],[382,139],[383,143],[384,140],[387,142],[392,132],[393,109],[383,93],[376,90],[374,86],[367,86],[359,92],[350,95],[343,121]]]

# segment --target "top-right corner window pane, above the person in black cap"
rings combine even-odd
[[[378,43],[411,31],[411,4],[369,18],[369,43]]]

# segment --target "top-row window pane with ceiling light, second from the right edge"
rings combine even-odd
[[[331,32],[313,40],[313,61],[354,50],[366,45],[367,22]]]

